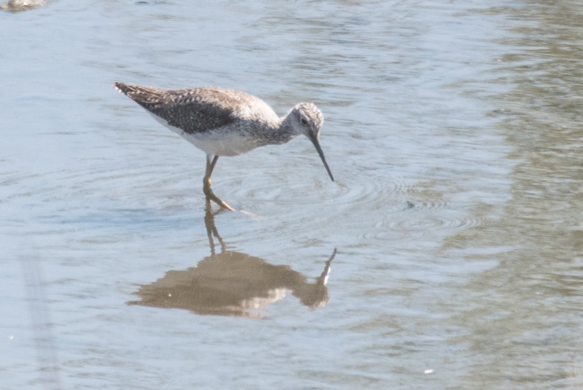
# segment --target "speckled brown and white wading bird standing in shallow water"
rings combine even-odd
[[[313,103],[298,103],[279,117],[258,97],[234,89],[204,87],[159,89],[114,83],[154,118],[206,153],[203,192],[207,201],[233,210],[210,189],[210,176],[219,156],[236,156],[264,145],[279,145],[298,135],[312,141],[332,181],[332,172],[319,143],[324,117]]]

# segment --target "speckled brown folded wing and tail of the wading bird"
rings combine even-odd
[[[136,103],[170,126],[188,134],[202,133],[237,120],[234,109],[241,102],[233,101],[229,90],[222,88],[159,89],[136,84],[114,83]]]

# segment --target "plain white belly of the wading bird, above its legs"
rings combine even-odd
[[[170,126],[159,116],[150,113],[159,123],[211,156],[236,156],[259,146],[250,137],[243,137],[238,131],[217,128],[198,134],[188,134],[178,127]]]

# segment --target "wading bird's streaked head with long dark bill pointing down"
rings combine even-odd
[[[294,133],[303,134],[312,141],[333,182],[334,177],[328,167],[328,163],[326,163],[324,152],[322,152],[322,147],[320,146],[320,128],[324,124],[322,112],[314,103],[298,103],[291,109],[288,114],[289,117],[291,117],[290,124],[293,127]]]

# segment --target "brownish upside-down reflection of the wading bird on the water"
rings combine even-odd
[[[324,263],[320,276],[309,283],[307,277],[290,266],[269,264],[259,257],[227,250],[210,207],[206,208],[205,225],[210,256],[195,267],[170,270],[159,280],[141,285],[134,293],[140,300],[127,302],[129,305],[261,318],[268,305],[284,298],[287,291],[310,309],[324,307],[329,301],[326,281],[336,249]],[[215,239],[220,253],[216,253]]]

